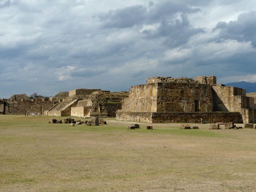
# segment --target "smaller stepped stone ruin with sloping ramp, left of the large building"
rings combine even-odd
[[[115,117],[116,110],[122,108],[122,99],[128,93],[112,93],[100,89],[75,89],[69,96],[45,111],[47,116],[78,116],[78,117]]]

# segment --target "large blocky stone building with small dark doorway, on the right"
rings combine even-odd
[[[237,87],[216,84],[215,76],[195,79],[151,77],[132,86],[116,119],[135,122],[256,122],[254,100]]]

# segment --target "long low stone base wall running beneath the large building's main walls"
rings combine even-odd
[[[146,123],[201,123],[201,119],[204,123],[243,122],[242,116],[238,112],[116,113],[116,120],[118,121],[134,121]]]

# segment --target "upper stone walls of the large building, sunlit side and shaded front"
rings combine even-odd
[[[154,83],[132,86],[122,111],[193,112],[198,108],[197,111],[210,112],[212,103],[209,84]]]

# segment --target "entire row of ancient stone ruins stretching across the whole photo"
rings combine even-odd
[[[254,98],[253,98],[254,97]],[[147,123],[256,123],[256,96],[217,84],[215,76],[149,77],[146,84],[125,91],[75,89],[54,97],[30,99],[17,94],[0,100],[0,114],[116,117]]]

